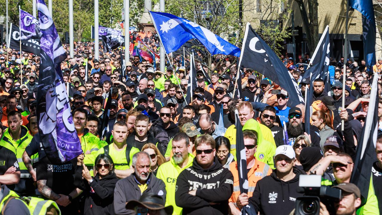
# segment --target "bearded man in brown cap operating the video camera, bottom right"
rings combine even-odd
[[[352,183],[342,183],[333,187],[342,190],[342,199],[335,203],[336,215],[356,215],[356,210],[361,205],[361,191],[359,191],[359,188]],[[329,214],[326,206],[320,202],[320,215]]]

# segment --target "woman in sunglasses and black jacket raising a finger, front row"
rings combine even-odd
[[[79,155],[74,185],[84,191],[86,197],[84,214],[114,215],[114,188],[119,179],[114,173],[112,158],[105,154],[100,154],[95,158],[94,177],[90,175],[83,161],[84,155]]]

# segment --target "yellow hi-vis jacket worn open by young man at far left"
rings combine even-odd
[[[29,171],[23,162],[23,153],[33,137],[31,134],[29,134],[28,129],[24,125],[21,125],[21,129],[26,130],[26,134],[23,137],[20,137],[17,141],[13,140],[13,138],[9,134],[9,129],[6,129],[2,140],[0,141],[0,145],[5,148],[8,148],[9,150],[13,151],[13,153],[15,153],[21,171],[20,178],[29,178]],[[17,145],[16,148],[15,145]],[[38,158],[38,153],[32,155],[31,157],[33,162],[37,162]]]

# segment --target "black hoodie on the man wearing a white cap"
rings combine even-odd
[[[296,176],[289,181],[278,179],[276,171],[259,180],[253,196],[249,198],[249,204],[255,208],[256,214],[287,215],[295,208],[296,198],[303,195],[297,192],[299,177],[304,174],[301,170],[293,168]]]

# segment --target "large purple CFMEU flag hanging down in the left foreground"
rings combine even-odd
[[[60,68],[66,53],[44,0],[37,0],[37,10],[42,33],[37,91],[39,134],[49,160],[64,163],[82,153]]]

